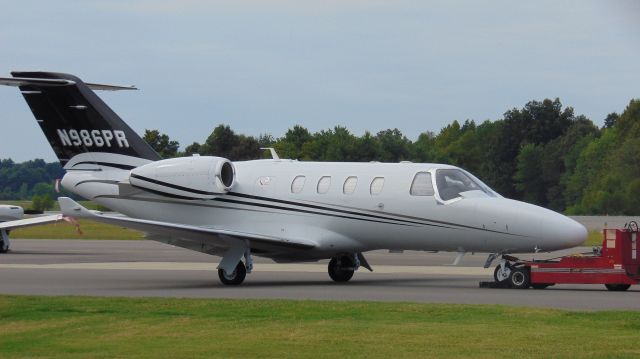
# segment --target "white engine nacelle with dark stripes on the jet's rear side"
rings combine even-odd
[[[131,170],[129,183],[148,192],[182,199],[212,199],[229,192],[236,171],[222,157],[170,158]]]

